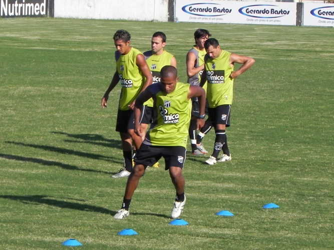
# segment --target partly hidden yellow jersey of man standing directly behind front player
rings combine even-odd
[[[153,82],[157,83],[160,81],[160,70],[163,66],[166,65],[170,65],[171,60],[173,58],[174,55],[172,55],[171,53],[167,52],[166,50],[164,50],[164,52],[162,54],[159,55],[155,55],[152,54],[152,50],[146,51],[144,52],[144,56],[145,56],[145,60],[146,63],[149,67],[149,69],[151,70],[152,76],[153,76]],[[150,107],[153,106],[153,99],[150,98],[149,100],[147,100],[144,105],[148,105]]]

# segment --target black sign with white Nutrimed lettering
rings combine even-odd
[[[0,0],[0,17],[44,16],[47,0]]]

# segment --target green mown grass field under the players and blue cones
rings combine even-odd
[[[184,82],[199,27],[256,59],[235,80],[233,159],[209,166],[188,155],[189,225],[169,225],[175,191],[163,161],[142,178],[131,215],[115,220],[126,184],[110,177],[123,163],[120,88],[100,106],[112,36],[126,29],[145,51],[164,31]],[[324,27],[0,19],[0,249],[63,249],[69,238],[80,249],[334,248],[333,38]],[[209,151],[213,141],[211,131]],[[269,202],[280,208],[263,209]],[[124,228],[138,235],[118,235]]]

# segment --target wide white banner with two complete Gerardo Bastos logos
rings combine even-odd
[[[176,0],[175,17],[185,22],[296,25],[296,3]]]

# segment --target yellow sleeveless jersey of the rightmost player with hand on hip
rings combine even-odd
[[[229,63],[230,54],[231,52],[222,50],[217,58],[205,57],[208,83],[206,97],[209,107],[232,104],[233,79],[230,78],[230,74],[233,67]]]

